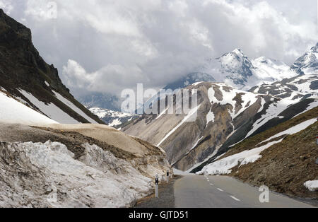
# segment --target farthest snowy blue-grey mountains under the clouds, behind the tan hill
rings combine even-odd
[[[317,74],[316,56],[317,45],[297,59],[292,66],[288,66],[283,62],[266,57],[249,59],[241,49],[235,49],[216,59],[206,59],[203,66],[191,74],[169,83],[164,89],[176,90],[201,82],[224,82],[228,86],[240,90],[275,95],[278,98],[289,98],[290,100],[308,98],[317,89],[317,80],[310,77],[310,75]],[[302,74],[307,75],[300,76]],[[304,82],[310,85],[305,86]],[[151,100],[158,100],[158,98],[154,97]],[[112,110],[117,112],[119,110],[119,107],[116,107],[119,104],[116,96],[97,93],[80,98],[80,101],[89,107],[106,108],[105,110],[108,110],[109,114],[106,115],[107,117],[103,117],[103,120],[105,121],[107,118],[107,123],[120,122],[123,124],[131,120],[130,117],[121,118],[122,114],[112,114]],[[149,100],[148,103],[150,103]],[[96,112],[95,114],[98,115]]]

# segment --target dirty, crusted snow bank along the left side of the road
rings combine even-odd
[[[131,163],[95,145],[84,144],[79,160],[57,142],[0,146],[0,207],[125,207],[152,189]]]

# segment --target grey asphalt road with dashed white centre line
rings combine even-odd
[[[314,207],[273,192],[269,192],[268,203],[261,203],[262,192],[257,187],[232,177],[185,175],[175,182],[174,188],[177,208]]]

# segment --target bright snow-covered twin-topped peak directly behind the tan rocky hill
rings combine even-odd
[[[206,59],[204,65],[192,74],[168,84],[165,88],[175,90],[199,81],[208,81],[224,82],[235,88],[248,90],[263,83],[270,84],[297,75],[295,68],[283,62],[266,57],[249,59],[241,49],[234,49],[216,59]]]

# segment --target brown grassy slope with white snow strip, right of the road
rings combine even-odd
[[[318,180],[317,116],[315,107],[245,139],[198,173],[229,174],[252,185],[317,200],[314,188],[311,191],[305,187],[306,182]]]

